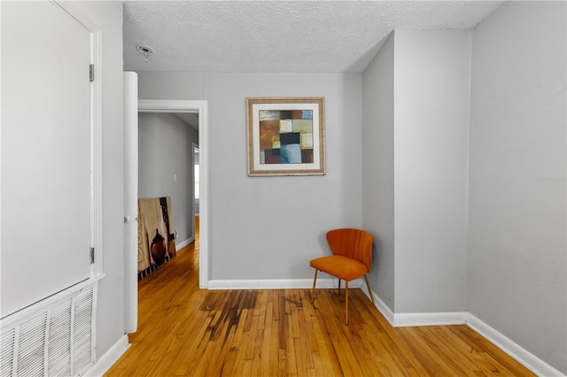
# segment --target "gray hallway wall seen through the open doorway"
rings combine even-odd
[[[138,197],[171,197],[177,244],[194,237],[193,142],[198,132],[174,114],[138,114]]]

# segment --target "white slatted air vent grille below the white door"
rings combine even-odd
[[[85,373],[95,361],[95,298],[96,285],[42,304],[41,310],[3,325],[0,376]]]

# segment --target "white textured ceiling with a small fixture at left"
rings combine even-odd
[[[362,72],[394,28],[470,28],[482,1],[125,1],[128,71]],[[144,61],[136,44],[154,53]]]

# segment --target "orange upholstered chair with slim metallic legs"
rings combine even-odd
[[[313,289],[311,289],[311,303],[315,296],[315,283],[317,273],[329,273],[338,278],[338,290],[340,281],[345,281],[345,324],[348,325],[348,282],[364,276],[366,286],[369,289],[370,299],[374,304],[374,297],[370,289],[369,278],[366,273],[370,272],[372,265],[372,235],[361,229],[343,228],[333,229],[327,232],[327,242],[333,255],[329,257],[312,259],[309,265],[315,268]]]

